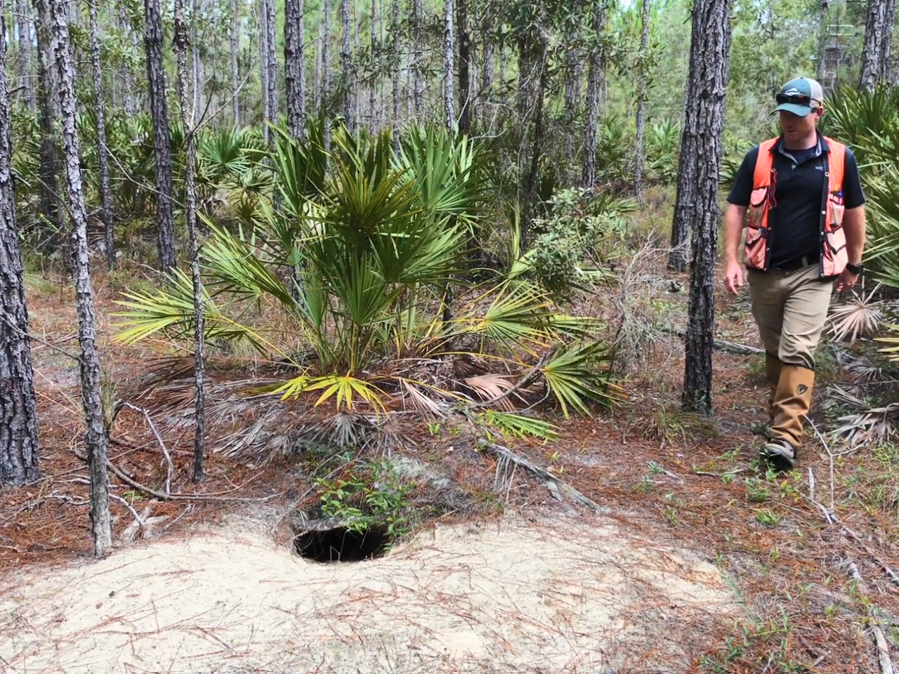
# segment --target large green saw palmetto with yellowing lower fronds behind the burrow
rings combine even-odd
[[[536,397],[567,417],[617,399],[595,320],[557,311],[520,274],[481,285],[460,278],[483,217],[485,172],[470,140],[411,129],[395,153],[388,134],[335,129],[326,154],[323,129],[302,142],[282,131],[276,139],[258,168],[271,172],[268,193],[232,228],[207,218],[202,247],[209,343],[243,345],[294,370],[248,391],[375,414],[405,406],[439,415],[497,398],[491,406],[508,414]],[[189,341],[191,297],[180,272],[155,292],[126,293],[118,339]],[[459,355],[489,371],[452,377]],[[513,391],[522,377],[528,386]]]

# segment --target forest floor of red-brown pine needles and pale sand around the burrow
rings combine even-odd
[[[672,290],[654,306],[682,316],[688,279],[653,273]],[[152,359],[171,351],[111,341],[116,279],[96,281],[106,390],[140,406]],[[147,419],[125,408],[112,464],[177,496],[112,477],[146,526],[112,501],[117,545],[93,561],[78,371],[62,352],[77,350],[71,296],[31,279],[43,477],[0,491],[4,674],[850,674],[899,657],[899,448],[850,452],[810,433],[796,471],[766,471],[750,430],[767,396],[761,357],[717,350],[716,415],[686,414],[671,334],[628,366],[619,409],[560,420],[553,442],[509,443],[601,512],[497,464],[465,432],[423,432],[395,454],[429,475],[413,505],[442,514],[378,559],[309,562],[287,526],[313,498],[308,464],[210,451],[194,485],[191,424],[158,424],[170,468]],[[719,294],[717,336],[757,347],[747,296]],[[841,377],[825,351],[819,409]],[[449,493],[429,490],[434,475]]]

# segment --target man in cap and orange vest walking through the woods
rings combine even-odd
[[[743,262],[770,384],[762,455],[783,470],[796,464],[803,416],[811,408],[814,350],[833,282],[837,292],[848,290],[862,270],[865,197],[852,151],[817,129],[821,84],[791,80],[777,103],[782,134],[743,158],[727,197],[724,247],[725,286],[736,295],[747,228]]]

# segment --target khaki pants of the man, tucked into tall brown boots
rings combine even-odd
[[[746,279],[765,350],[783,363],[814,370],[832,279],[818,277],[817,262],[790,272],[748,270]]]

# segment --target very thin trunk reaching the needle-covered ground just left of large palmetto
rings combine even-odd
[[[181,109],[181,123],[187,139],[187,159],[184,166],[184,219],[191,239],[191,279],[193,281],[194,350],[193,375],[194,435],[193,435],[193,482],[203,479],[203,454],[206,448],[206,354],[205,328],[203,325],[203,284],[200,278],[200,242],[197,235],[197,134],[196,120],[187,114],[187,26],[184,23],[184,0],[174,3],[174,48],[178,69],[178,95]]]

